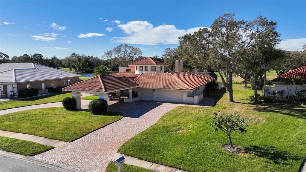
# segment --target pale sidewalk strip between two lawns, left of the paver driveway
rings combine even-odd
[[[54,148],[68,143],[65,141],[49,139],[46,137],[33,136],[30,134],[15,133],[15,132],[10,132],[10,131],[3,131],[3,130],[0,130],[0,136],[21,139],[21,140],[28,140],[28,141],[44,144],[47,146],[53,146]]]

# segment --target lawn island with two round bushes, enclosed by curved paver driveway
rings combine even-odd
[[[121,118],[117,112],[93,115],[83,110],[52,107],[1,115],[0,130],[71,142]]]

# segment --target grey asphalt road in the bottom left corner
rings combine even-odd
[[[0,155],[0,172],[60,172],[52,168]]]

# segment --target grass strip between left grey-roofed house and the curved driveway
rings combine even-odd
[[[71,92],[40,96],[40,97],[24,99],[24,100],[0,101],[0,110],[10,109],[10,108],[15,108],[15,107],[24,107],[24,106],[30,106],[30,105],[36,105],[36,104],[61,102],[65,97],[71,97]]]

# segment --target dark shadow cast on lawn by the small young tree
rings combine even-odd
[[[254,154],[256,156],[266,158],[272,160],[276,164],[287,164],[285,161],[287,160],[302,160],[302,157],[298,157],[296,155],[290,155],[286,151],[278,150],[274,146],[263,145],[262,147],[251,145],[249,147],[244,148],[244,153]],[[270,163],[267,161],[267,163]]]

